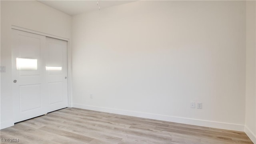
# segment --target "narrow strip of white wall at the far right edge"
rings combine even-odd
[[[256,144],[256,2],[246,2],[246,119],[244,131]]]

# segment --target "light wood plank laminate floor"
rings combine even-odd
[[[19,138],[26,144],[253,144],[244,132],[78,108],[64,108],[0,132],[1,141]]]

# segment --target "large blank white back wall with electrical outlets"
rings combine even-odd
[[[74,16],[74,107],[244,131],[245,47],[244,1],[137,1]]]

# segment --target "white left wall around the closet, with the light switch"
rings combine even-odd
[[[37,1],[1,0],[1,129],[12,126],[11,26],[51,34],[71,36],[71,16]]]

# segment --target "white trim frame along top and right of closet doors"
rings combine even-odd
[[[15,30],[21,30],[21,31],[24,31],[24,32],[30,32],[30,33],[33,33],[33,34],[39,34],[39,35],[42,35],[42,36],[48,36],[48,37],[51,37],[51,38],[57,38],[57,39],[60,39],[60,40],[65,40],[68,42],[67,44],[67,64],[68,64],[68,107],[73,107],[73,104],[72,104],[72,51],[71,51],[71,48],[70,48],[70,39],[68,38],[63,38],[63,37],[60,37],[60,36],[54,36],[52,34],[46,34],[44,32],[37,32],[37,31],[34,31],[34,30],[30,30],[30,29],[27,29],[27,28],[22,28],[22,27],[19,27],[19,26],[14,26],[12,25],[11,26],[12,29],[15,29]]]

